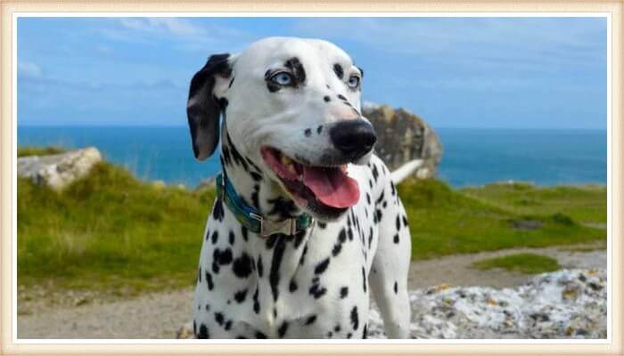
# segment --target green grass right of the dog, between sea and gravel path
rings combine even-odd
[[[481,190],[489,190],[489,187]],[[540,188],[528,188],[540,190]],[[574,190],[571,188],[571,191]],[[579,192],[586,194],[583,188]],[[572,245],[606,239],[606,231],[578,223],[568,211],[568,202],[554,208],[551,198],[537,195],[536,201],[552,206],[549,210],[518,211],[505,206],[505,200],[479,198],[475,190],[452,190],[436,180],[402,182],[399,195],[406,206],[412,234],[412,258],[427,259],[494,251],[513,247]],[[601,190],[590,190],[598,200]],[[486,192],[483,195],[489,196]],[[596,207],[606,210],[606,206]],[[592,214],[598,216],[599,214]],[[530,229],[518,228],[529,222]],[[537,226],[537,228],[536,228]]]

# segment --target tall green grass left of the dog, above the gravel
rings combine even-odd
[[[19,179],[18,280],[129,294],[189,286],[213,198],[107,163],[61,193]]]

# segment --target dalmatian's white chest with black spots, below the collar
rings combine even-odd
[[[358,209],[294,237],[242,233],[227,210],[209,222],[195,327],[213,338],[361,337],[376,231]]]

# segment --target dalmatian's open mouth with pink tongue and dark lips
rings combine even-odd
[[[357,181],[347,175],[347,166],[308,166],[270,147],[262,158],[301,205],[325,214],[339,214],[359,200]]]

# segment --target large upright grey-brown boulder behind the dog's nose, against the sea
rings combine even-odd
[[[421,179],[436,175],[443,153],[442,144],[423,118],[405,109],[374,104],[365,105],[363,114],[374,125],[377,133],[377,155],[390,170],[422,159],[422,164],[415,168],[412,175]]]

